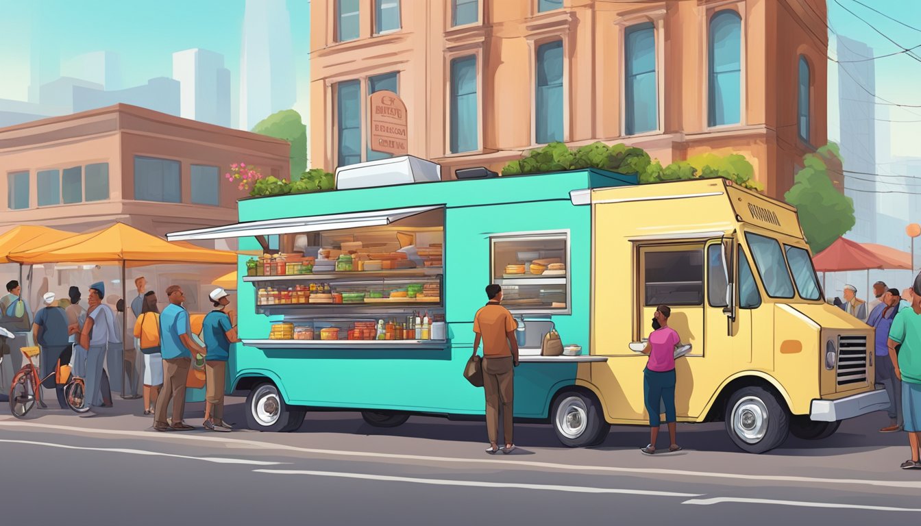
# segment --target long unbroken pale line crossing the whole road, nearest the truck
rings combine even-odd
[[[348,450],[317,450],[311,448],[299,448],[297,446],[288,446],[286,444],[274,444],[271,442],[260,442],[258,440],[246,440],[241,438],[222,438],[222,437],[204,437],[201,435],[185,435],[181,433],[153,433],[151,431],[128,431],[120,429],[87,429],[85,427],[59,426],[53,424],[39,424],[36,422],[18,422],[15,420],[0,421],[0,427],[18,427],[23,429],[45,428],[69,433],[84,433],[89,435],[112,435],[122,437],[135,437],[153,440],[189,440],[205,443],[223,443],[228,447],[250,447],[261,450],[285,450],[299,453],[309,453],[325,456],[337,457],[356,457],[370,459],[400,460],[400,461],[420,461],[420,462],[439,462],[439,463],[460,463],[460,464],[483,464],[492,467],[508,466],[515,468],[545,468],[555,471],[566,472],[600,472],[600,473],[624,473],[628,475],[669,475],[669,476],[687,476],[702,478],[722,478],[729,480],[747,480],[754,482],[787,482],[803,485],[828,484],[828,485],[873,485],[881,487],[898,487],[898,488],[918,488],[921,489],[921,481],[893,481],[893,480],[873,480],[873,479],[836,479],[836,478],[819,478],[793,475],[758,475],[758,474],[740,474],[740,473],[717,473],[717,472],[694,472],[682,470],[668,470],[659,468],[622,468],[613,466],[592,466],[579,464],[563,464],[556,462],[531,462],[531,461],[511,461],[505,459],[458,459],[450,457],[432,457],[424,455],[405,455],[399,453],[376,453],[371,451],[348,451]],[[474,450],[479,452],[480,450]],[[745,454],[745,453],[739,453]]]

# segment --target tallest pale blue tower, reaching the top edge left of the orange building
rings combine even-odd
[[[297,100],[286,0],[246,0],[240,53],[239,127],[250,130]]]

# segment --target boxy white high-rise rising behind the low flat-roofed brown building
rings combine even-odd
[[[181,84],[181,116],[230,126],[230,71],[224,55],[201,49],[173,53],[173,78]]]

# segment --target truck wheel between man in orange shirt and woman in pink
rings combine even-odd
[[[611,431],[601,404],[583,392],[567,391],[557,396],[550,418],[556,438],[569,448],[597,446]]]

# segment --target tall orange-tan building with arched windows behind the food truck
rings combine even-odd
[[[331,0],[310,12],[310,156],[367,148],[396,91],[411,155],[501,169],[542,144],[640,146],[662,164],[744,154],[782,194],[825,144],[824,0]]]

